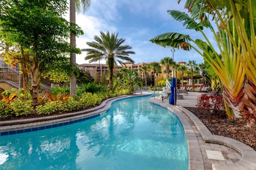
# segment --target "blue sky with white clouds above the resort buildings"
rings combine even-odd
[[[119,38],[126,39],[125,45],[132,47],[136,53],[130,55],[135,63],[155,62],[162,58],[172,57],[171,48],[164,48],[151,43],[149,40],[165,32],[180,32],[193,38],[200,37],[193,30],[186,30],[181,23],[172,19],[167,10],[184,9],[185,0],[180,4],[176,0],[91,0],[90,9],[77,14],[76,22],[83,29],[84,35],[76,39],[77,47],[88,48],[86,42],[92,41],[100,31],[118,33]],[[78,64],[85,61],[86,52],[77,55]],[[175,49],[174,61],[196,60],[202,63],[203,58],[194,50],[186,52]],[[104,61],[101,61],[104,63]]]

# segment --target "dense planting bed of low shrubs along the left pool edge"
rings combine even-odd
[[[93,83],[78,88],[75,97],[69,96],[68,91],[69,87],[58,87],[45,95],[39,95],[39,105],[34,109],[29,92],[24,95],[23,89],[5,90],[0,100],[0,118],[63,114],[94,107],[110,97],[129,94],[129,90],[120,89],[112,92]]]

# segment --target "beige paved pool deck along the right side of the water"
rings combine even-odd
[[[188,92],[177,105],[169,104],[169,99],[155,97],[151,103],[166,107],[181,120],[187,134],[189,148],[189,169],[256,169],[256,152],[244,143],[234,139],[212,135],[206,126],[186,107],[195,107],[197,96],[202,93]]]

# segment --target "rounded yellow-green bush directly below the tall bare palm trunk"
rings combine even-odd
[[[80,108],[79,102],[73,97],[69,97],[66,102],[60,101],[58,103],[58,111],[60,112],[71,112],[76,111]]]

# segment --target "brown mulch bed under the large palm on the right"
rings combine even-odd
[[[224,117],[213,117],[203,109],[196,107],[185,107],[212,132],[212,134],[238,140],[256,151],[256,127],[247,126],[246,121],[228,120]]]

